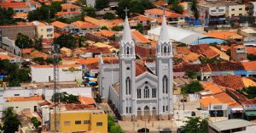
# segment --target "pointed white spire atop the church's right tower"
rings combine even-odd
[[[168,34],[168,29],[166,25],[166,10],[164,9],[164,15],[162,17],[162,25],[160,29],[160,42],[169,42],[169,34]]]

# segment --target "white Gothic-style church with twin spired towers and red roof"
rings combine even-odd
[[[142,63],[141,59],[136,59],[127,15],[119,43],[119,58],[111,61],[100,58],[98,78],[102,98],[115,104],[123,120],[171,119],[172,42],[166,16],[162,18],[156,61]]]

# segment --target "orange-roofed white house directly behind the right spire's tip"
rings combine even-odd
[[[161,24],[161,17],[164,15],[164,11],[160,8],[152,8],[145,10],[144,13],[150,18],[157,19]],[[185,23],[183,14],[172,13],[166,11],[166,20],[168,25],[183,25]]]

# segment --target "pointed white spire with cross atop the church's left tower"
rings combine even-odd
[[[127,17],[128,11],[129,10],[127,8],[125,8],[125,25],[124,25],[123,38],[122,38],[123,42],[132,42],[131,29],[130,29],[130,25],[129,25],[129,21],[128,21],[128,17]]]

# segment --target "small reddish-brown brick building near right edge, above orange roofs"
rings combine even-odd
[[[230,48],[231,58],[235,61],[241,61],[247,59],[247,51],[244,45],[231,45]]]

